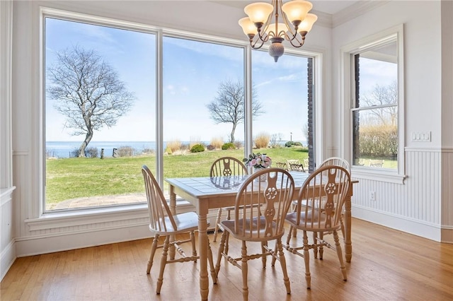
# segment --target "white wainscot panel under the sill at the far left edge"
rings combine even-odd
[[[13,190],[16,187],[0,189],[0,281],[16,260],[13,228]]]

